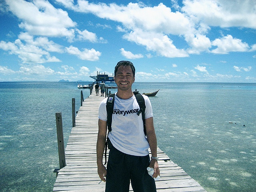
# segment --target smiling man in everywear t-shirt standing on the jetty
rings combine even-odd
[[[120,61],[117,63],[114,81],[118,90],[114,98],[114,111],[116,112],[113,111],[112,114],[112,131],[108,134],[112,147],[108,156],[107,169],[102,162],[107,136],[107,98],[101,102],[99,108],[98,174],[100,179],[106,182],[105,192],[128,192],[130,181],[134,192],[156,192],[156,184],[152,177],[156,178],[160,175],[160,171],[157,162],[157,141],[150,100],[143,95],[146,105],[147,136],[145,136],[142,115],[138,116],[131,112],[140,108],[132,92],[132,84],[135,81],[135,68],[132,62]],[[152,153],[151,160],[148,148]],[[152,177],[147,172],[148,166],[154,168]]]

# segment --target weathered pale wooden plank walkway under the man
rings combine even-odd
[[[76,116],[66,146],[66,166],[56,178],[53,191],[62,192],[104,192],[105,184],[100,182],[96,164],[96,142],[98,134],[98,107],[104,99],[92,95],[86,98]],[[157,192],[205,192],[182,168],[158,150],[158,164],[161,178],[156,181]],[[132,188],[130,187],[130,191]]]

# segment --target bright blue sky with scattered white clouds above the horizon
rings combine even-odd
[[[255,0],[0,0],[0,81],[256,82]]]

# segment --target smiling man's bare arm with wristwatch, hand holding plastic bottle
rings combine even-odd
[[[145,124],[151,154],[153,157],[157,157],[157,140],[153,117],[145,119]],[[156,159],[151,159],[149,166],[154,168],[154,174],[152,175],[153,178],[156,178],[158,175],[160,175],[159,166]]]

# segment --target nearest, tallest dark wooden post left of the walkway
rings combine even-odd
[[[64,168],[64,166],[66,166],[64,137],[63,137],[63,129],[62,129],[62,114],[61,112],[58,112],[55,114],[55,116],[56,116],[56,127],[57,127],[59,162],[60,162],[60,169],[61,169],[61,168]]]

